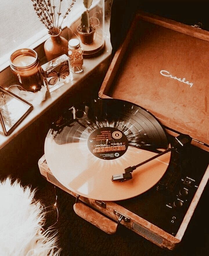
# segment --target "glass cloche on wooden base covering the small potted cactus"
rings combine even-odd
[[[69,38],[79,38],[84,57],[99,54],[105,46],[104,9],[104,0],[83,0],[74,3]]]

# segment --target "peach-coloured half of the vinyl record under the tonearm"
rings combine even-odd
[[[171,155],[166,153],[138,167],[129,181],[113,182],[112,175],[156,153],[129,146],[120,158],[103,160],[89,151],[87,141],[59,145],[53,135],[46,137],[44,152],[52,174],[63,186],[78,195],[104,201],[131,198],[154,186],[165,173]]]

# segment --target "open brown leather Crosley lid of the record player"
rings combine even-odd
[[[208,62],[207,31],[140,14],[113,58],[99,96],[136,103],[163,125],[209,144]]]

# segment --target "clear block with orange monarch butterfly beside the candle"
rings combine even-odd
[[[50,92],[73,80],[72,72],[70,71],[70,60],[66,54],[42,65],[42,69],[45,83]]]

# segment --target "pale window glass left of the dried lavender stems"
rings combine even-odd
[[[7,55],[44,28],[33,10],[32,1],[1,1],[0,65]]]

